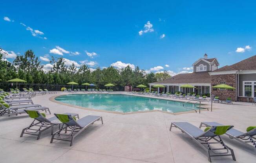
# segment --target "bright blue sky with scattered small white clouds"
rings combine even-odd
[[[63,56],[91,69],[130,64],[174,75],[190,72],[204,53],[221,66],[255,55],[255,8],[221,0],[4,1],[0,47],[9,61],[32,49],[46,69],[47,58]]]

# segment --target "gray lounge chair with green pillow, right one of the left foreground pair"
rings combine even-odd
[[[66,115],[66,114],[54,114],[64,125],[62,125],[61,129],[55,132],[51,137],[51,142],[53,139],[57,140],[64,140],[70,141],[70,146],[73,144],[74,138],[80,134],[83,130],[85,130],[88,126],[92,125],[95,121],[101,120],[103,124],[102,116],[85,116],[79,120],[75,120],[73,116]],[[68,130],[69,128],[70,130]],[[65,133],[69,131],[69,134],[62,134],[61,132],[64,131]],[[74,132],[77,132],[74,134]]]

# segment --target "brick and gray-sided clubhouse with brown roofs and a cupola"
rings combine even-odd
[[[193,72],[177,74],[164,81],[149,83],[150,88],[161,84],[166,86],[163,92],[183,92],[219,96],[220,100],[231,97],[232,101],[252,102],[256,97],[256,55],[233,65],[218,68],[217,58],[208,59],[207,54],[192,64]],[[181,88],[181,85],[190,84],[196,88]],[[216,89],[212,86],[227,84],[236,89]]]

